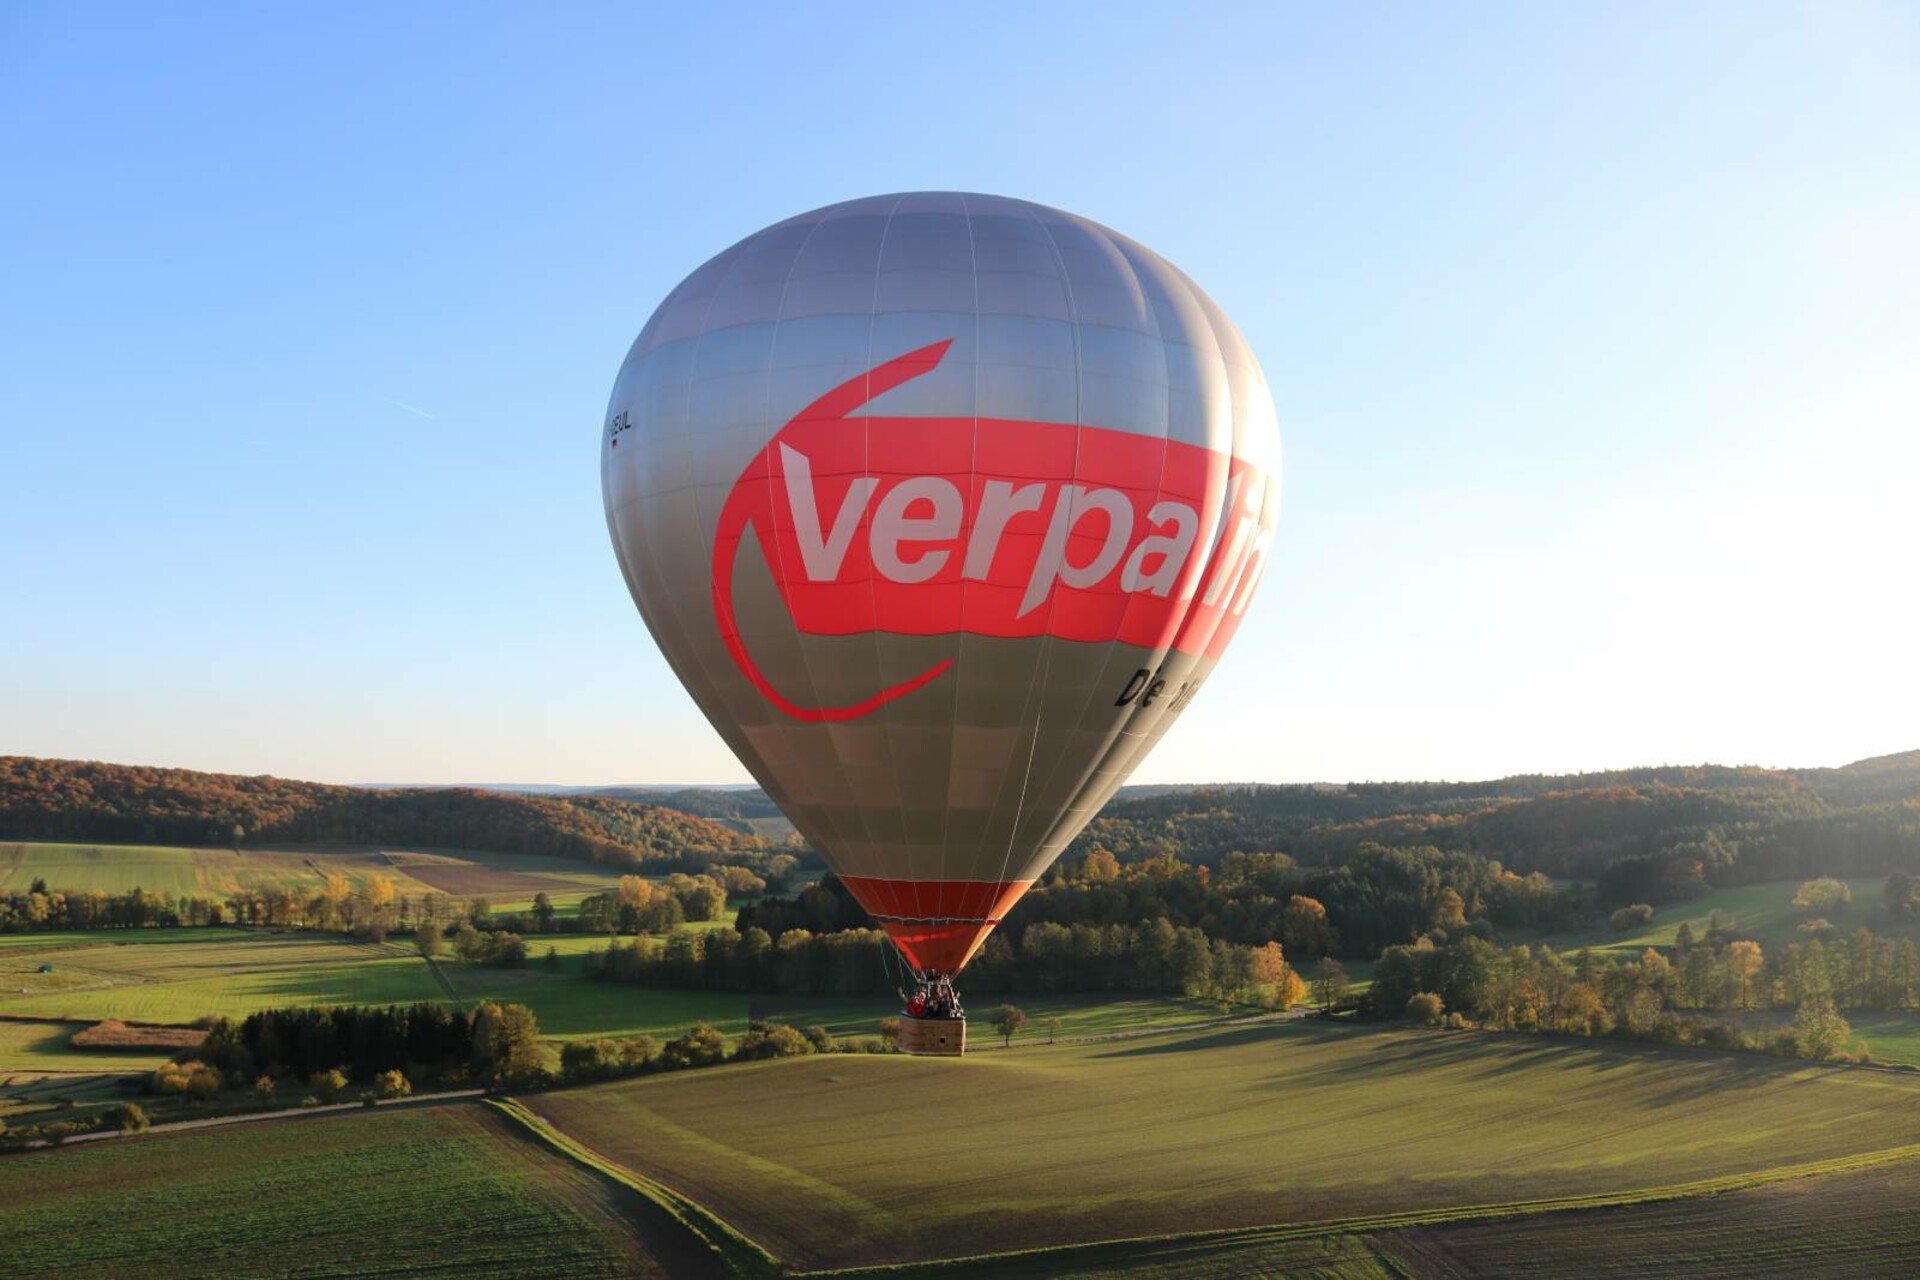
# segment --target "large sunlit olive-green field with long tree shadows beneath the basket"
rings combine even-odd
[[[803,1267],[1592,1196],[1920,1142],[1920,1080],[1899,1075],[1309,1023],[814,1057],[526,1105]]]

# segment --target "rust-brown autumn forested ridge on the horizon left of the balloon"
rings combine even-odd
[[[760,842],[705,818],[603,796],[497,791],[369,791],[81,760],[0,756],[0,839],[230,846],[396,844],[586,858],[611,865],[678,862]]]

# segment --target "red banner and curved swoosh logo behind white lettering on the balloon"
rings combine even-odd
[[[795,415],[735,480],[714,533],[712,601],[720,637],[747,679],[795,720],[841,722],[868,716],[952,666],[933,664],[847,706],[787,699],[760,672],[735,622],[733,562],[749,528],[803,635],[1052,635],[1219,656],[1238,628],[1233,604],[1238,599],[1244,606],[1265,555],[1261,539],[1273,516],[1265,476],[1215,449],[1098,426],[849,416],[937,368],[950,345],[908,351],[833,388]],[[806,468],[804,478],[789,474],[783,447],[793,466]],[[872,547],[874,512],[908,480],[952,486],[964,509],[947,537],[910,537],[895,547],[897,557],[927,566],[918,581],[876,566]],[[1069,484],[1091,505],[1064,520]],[[812,501],[812,514],[797,512],[791,495]],[[998,518],[981,520],[989,503],[1000,505]],[[843,526],[849,505],[856,512]],[[904,510],[939,522],[933,499],[914,499]],[[851,535],[835,537],[837,530]],[[1175,553],[1183,532],[1188,545]],[[1150,551],[1142,545],[1148,537],[1169,551]],[[826,562],[826,578],[812,576],[806,547],[816,566]],[[1058,566],[1054,557],[1062,557]]]

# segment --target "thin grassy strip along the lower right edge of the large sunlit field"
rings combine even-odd
[[[1816,1178],[1836,1173],[1857,1173],[1880,1165],[1895,1165],[1907,1159],[1920,1159],[1920,1142],[1864,1151],[1859,1155],[1836,1155],[1822,1161],[1799,1165],[1778,1165],[1753,1173],[1722,1174],[1718,1178],[1699,1178],[1695,1182],[1668,1182],[1624,1192],[1597,1192],[1592,1196],[1561,1196],[1553,1199],[1515,1199],[1492,1205],[1459,1205],[1448,1209],[1407,1209],[1404,1213],[1380,1213],[1356,1219],[1323,1219],[1317,1222],[1283,1222],[1273,1226],[1231,1226],[1204,1232],[1173,1232],[1165,1236],[1117,1236],[1112,1240],[1089,1240],[1087,1244],[1044,1245],[1037,1249],[1008,1249],[1000,1253],[970,1253],[962,1257],[927,1259],[918,1263],[881,1263],[874,1267],[835,1267],[824,1270],[789,1272],[795,1280],[826,1280],[829,1276],[935,1276],[947,1272],[987,1272],[1020,1274],[1014,1267],[1092,1267],[1106,1261],[1140,1261],[1142,1249],[1217,1249],[1258,1244],[1286,1244],[1294,1240],[1313,1240],[1321,1236],[1375,1236],[1382,1232],[1407,1230],[1415,1226],[1457,1226],[1463,1222],[1494,1222],[1500,1219],[1534,1217],[1540,1213],[1569,1213],[1580,1209],[1620,1209],[1628,1205],[1655,1205],[1674,1199],[1695,1199],[1724,1196],[1776,1182]],[[1041,1274],[1041,1272],[1031,1272]]]

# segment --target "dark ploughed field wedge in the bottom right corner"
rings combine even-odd
[[[1659,1205],[1546,1213],[1377,1236],[1415,1276],[1740,1280],[1912,1274],[1920,1161]]]

